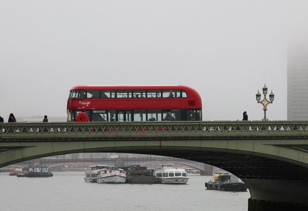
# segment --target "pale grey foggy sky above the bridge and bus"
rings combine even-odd
[[[287,118],[307,1],[0,1],[0,116],[66,116],[75,85],[187,85],[203,120]],[[303,39],[304,40],[304,39]],[[302,41],[301,41],[302,42]],[[303,41],[304,42],[304,41]]]

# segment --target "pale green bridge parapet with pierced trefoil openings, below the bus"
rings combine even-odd
[[[2,123],[0,141],[29,138],[306,138],[308,121],[156,121]],[[39,141],[39,140],[37,140]],[[60,141],[60,140],[59,140]]]

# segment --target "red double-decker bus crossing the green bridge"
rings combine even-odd
[[[74,86],[67,121],[86,112],[89,121],[201,121],[198,92],[188,86]]]

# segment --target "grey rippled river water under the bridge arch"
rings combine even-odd
[[[186,185],[96,184],[84,172],[53,172],[27,178],[0,173],[1,210],[228,210],[247,211],[249,191],[206,190],[213,176],[188,174]]]

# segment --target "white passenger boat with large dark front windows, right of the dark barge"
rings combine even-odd
[[[160,178],[160,182],[164,184],[186,184],[188,182],[185,169],[172,167],[173,164],[160,164],[161,168],[157,169],[154,175]]]

